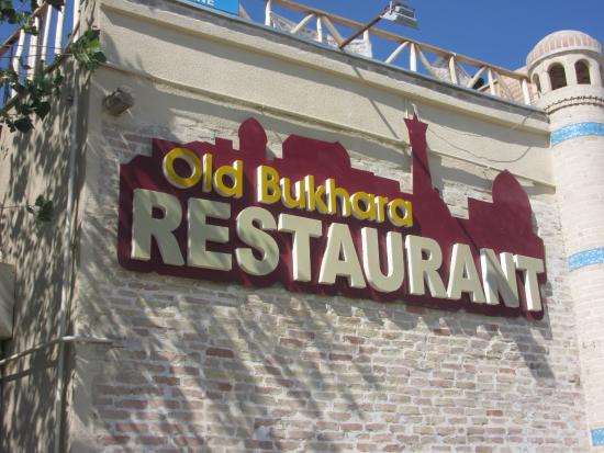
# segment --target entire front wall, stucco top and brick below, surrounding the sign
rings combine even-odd
[[[111,1],[98,20],[110,64],[92,80],[74,325],[115,343],[76,349],[71,451],[585,451],[543,113],[176,3]],[[135,105],[112,117],[102,98],[122,86]],[[409,190],[412,103],[456,215],[468,196],[490,199],[493,168],[526,177],[547,250],[543,321],[118,264],[119,165],[148,155],[152,137],[237,146],[254,116],[271,154],[290,134],[339,140],[355,167]]]

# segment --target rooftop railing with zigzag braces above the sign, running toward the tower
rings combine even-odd
[[[247,0],[242,0],[239,15],[251,20],[245,9],[246,3]],[[283,13],[277,12],[276,7],[282,9]],[[302,14],[302,19],[297,22],[287,19],[287,16],[291,16],[291,13]],[[283,26],[283,22],[287,23],[287,26]],[[305,7],[291,0],[265,0],[264,23],[267,26],[311,37],[334,47],[344,42],[343,32],[338,30],[338,26],[354,31],[363,27],[362,23]],[[382,61],[384,64],[394,65],[413,72],[423,72],[438,80],[476,89],[515,102],[530,104],[535,98],[535,90],[528,77],[522,72],[501,68],[376,27],[363,33],[362,42],[365,46],[361,46],[361,48],[370,49],[371,38],[374,37],[385,39],[392,44],[390,55]],[[355,53],[355,48],[346,47],[344,52]],[[365,52],[363,55],[371,56]],[[404,56],[406,58],[403,58]]]

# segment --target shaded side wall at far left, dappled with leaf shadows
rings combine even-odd
[[[63,69],[70,72],[69,68]],[[70,93],[71,87],[66,84],[53,111],[44,122],[36,122],[30,133],[2,131],[0,159],[7,183],[2,188],[2,205],[25,205],[44,194],[55,209],[49,223],[34,220],[23,208],[3,209],[1,249],[5,260],[16,265],[18,278],[13,338],[2,343],[3,356],[58,337]],[[80,115],[79,134],[87,127],[86,120]],[[1,451],[48,451],[53,445],[57,351],[57,346],[46,348],[3,367]]]

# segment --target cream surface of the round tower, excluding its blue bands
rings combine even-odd
[[[574,70],[575,61],[590,65],[591,84],[579,84]],[[534,72],[548,79],[547,70],[553,64],[566,68],[568,86],[547,91],[539,105],[548,113],[551,129],[581,128],[586,124],[604,124],[604,88],[600,73],[603,56],[589,48],[558,48],[535,65]],[[604,203],[602,200],[602,173],[604,171],[604,139],[597,134],[578,134],[562,137],[551,149],[553,174],[557,181],[557,196],[563,206],[560,213],[564,242],[569,257],[584,256],[603,246]],[[581,261],[581,260],[579,260]],[[569,260],[570,264],[570,260]],[[596,432],[604,426],[604,315],[601,284],[604,265],[600,260],[574,264],[569,275],[575,315],[581,329],[580,344],[582,382],[585,392],[585,412],[589,429]],[[594,442],[595,443],[595,442]],[[604,445],[592,451],[604,451]]]

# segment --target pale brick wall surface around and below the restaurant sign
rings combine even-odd
[[[236,122],[212,117],[175,123],[124,129],[108,120],[90,140],[75,328],[116,342],[76,351],[74,451],[588,449],[551,191],[528,188],[549,275],[539,322],[127,272],[115,259],[119,162],[150,154],[150,137],[236,132]],[[269,131],[276,154],[294,132],[278,124]],[[409,160],[356,151],[355,166],[409,184]],[[494,174],[454,160],[435,165],[457,215],[469,194],[489,199]]]

